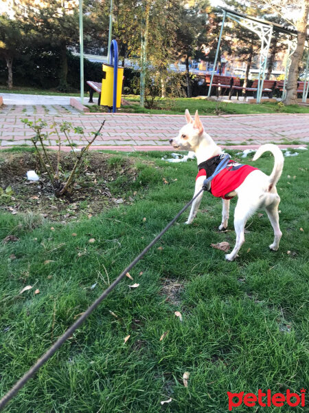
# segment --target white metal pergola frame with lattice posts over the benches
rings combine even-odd
[[[287,39],[288,59],[286,61],[286,76],[284,78],[284,90],[282,92],[282,98],[284,98],[285,93],[286,93],[286,89],[285,89],[286,78],[288,76],[288,69],[290,67],[291,56],[295,52],[296,45],[297,45],[297,31],[293,29],[285,28],[283,25],[280,25],[278,23],[273,23],[271,21],[257,19],[255,17],[247,16],[247,14],[238,13],[233,10],[229,10],[227,8],[222,8],[222,10],[223,10],[222,24],[221,24],[220,35],[218,39],[216,56],[214,60],[214,69],[211,74],[211,79],[209,83],[208,97],[211,94],[211,86],[212,86],[212,81],[214,78],[214,73],[216,70],[218,54],[220,50],[220,42],[222,38],[223,28],[225,25],[225,19],[228,17],[229,19],[236,21],[236,23],[239,23],[240,25],[242,25],[247,30],[250,30],[251,32],[255,34],[258,34],[258,36],[260,37],[261,52],[260,52],[259,72],[258,72],[257,103],[260,103],[262,99],[262,90],[263,90],[263,83],[265,79],[265,72],[266,72],[266,66],[267,66],[267,57],[268,57],[269,46],[271,45],[271,38],[273,36],[273,31],[275,30],[282,34],[289,35]],[[290,37],[292,37],[292,39],[290,39]],[[307,40],[307,46],[308,46],[308,40]],[[306,102],[306,98],[308,96],[308,87],[309,87],[308,74],[309,74],[309,52],[308,52],[307,63],[306,63],[305,84],[304,84],[304,92],[303,92],[303,98],[302,98],[303,102]]]

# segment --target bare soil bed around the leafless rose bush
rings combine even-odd
[[[49,157],[56,167],[57,154],[49,153]],[[71,156],[61,153],[64,171],[71,171],[73,162]],[[38,182],[27,180],[26,173],[30,170],[38,173]],[[80,215],[90,218],[119,204],[132,203],[136,195],[132,185],[138,173],[129,158],[89,153],[73,193],[69,198],[56,198],[35,153],[1,153],[0,211],[12,214],[32,211],[54,221],[72,220]]]

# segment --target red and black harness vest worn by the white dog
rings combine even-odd
[[[221,156],[214,156],[214,158],[210,158],[205,162],[202,162],[198,165],[198,174],[196,176],[199,178],[200,176],[211,176],[216,169],[216,165],[219,164],[221,160]],[[216,198],[223,198],[225,200],[230,200],[233,198],[232,196],[227,197],[227,193],[234,191],[236,188],[244,182],[247,178],[249,173],[252,171],[257,170],[258,168],[251,167],[250,165],[242,165],[238,162],[230,160],[227,166],[218,173],[211,181],[211,187],[209,192],[212,193]]]

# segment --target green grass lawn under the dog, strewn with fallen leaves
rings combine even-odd
[[[19,238],[0,242],[0,394],[192,197],[195,161],[169,164],[162,153],[116,157],[126,156],[148,162],[128,188],[137,191],[131,205],[68,224],[0,213],[0,240]],[[267,154],[246,161],[268,174],[273,169]],[[262,211],[247,223],[240,257],[225,262],[210,244],[233,246],[233,219],[229,232],[219,233],[221,202],[206,193],[194,223],[184,225],[185,212],[130,272],[134,280],[117,286],[5,411],[226,413],[227,391],[299,394],[309,379],[307,151],[285,158],[277,188],[277,253],[268,251],[273,231]],[[236,200],[231,204],[233,211]],[[32,289],[19,294],[27,285]]]

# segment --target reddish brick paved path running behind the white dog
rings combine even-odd
[[[102,136],[95,141],[97,146],[94,148],[126,151],[172,149],[168,140],[176,136],[185,122],[181,115],[81,114],[70,106],[8,105],[0,108],[0,147],[31,145],[33,132],[21,123],[21,118],[25,117],[29,120],[42,118],[49,124],[67,120],[74,126],[83,127],[86,138],[106,119]],[[295,140],[303,144],[309,142],[309,114],[201,116],[201,119],[207,133],[222,146],[266,142],[288,145]],[[87,143],[87,140],[79,140],[78,135],[73,139],[77,145]],[[55,137],[52,135],[46,143],[53,147]]]

